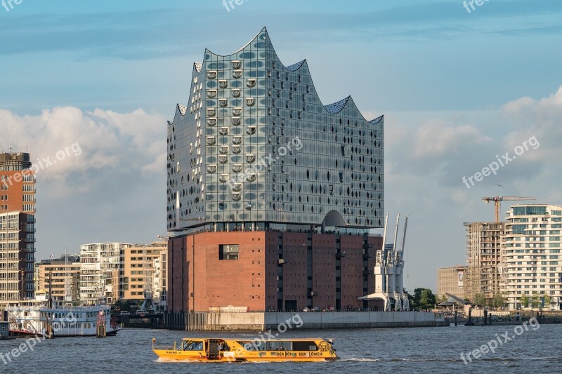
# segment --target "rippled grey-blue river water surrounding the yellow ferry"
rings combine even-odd
[[[562,325],[288,330],[282,338],[334,338],[339,361],[322,363],[165,362],[151,350],[183,337],[257,338],[255,333],[124,329],[117,337],[55,338],[17,358],[25,340],[0,341],[0,373],[562,373]],[[281,336],[280,336],[281,337]],[[507,340],[507,341],[506,341]],[[492,342],[494,341],[494,342]],[[499,343],[501,342],[501,344]],[[488,344],[490,343],[490,344]],[[481,349],[482,345],[487,348]],[[495,352],[490,352],[494,347]],[[478,359],[473,359],[473,351]],[[467,353],[472,352],[467,359]],[[464,353],[464,360],[461,354]],[[4,363],[6,360],[6,364]],[[466,364],[465,364],[466,361]]]

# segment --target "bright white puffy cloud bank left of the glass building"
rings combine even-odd
[[[122,114],[55,107],[38,116],[0,110],[0,140],[4,150],[12,144],[15,152],[29,152],[39,166],[38,180],[45,182],[65,182],[72,173],[87,175],[108,169],[155,173],[155,160],[162,161],[166,149],[165,123],[162,116],[142,109]],[[165,163],[161,165],[164,168]]]

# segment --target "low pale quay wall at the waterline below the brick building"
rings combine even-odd
[[[297,318],[296,318],[297,317]],[[443,317],[426,312],[301,312],[296,313],[184,313],[166,314],[166,328],[170,330],[282,330],[327,328],[393,328],[450,326]],[[302,323],[301,323],[302,322]]]

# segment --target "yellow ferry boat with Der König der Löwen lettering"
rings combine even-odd
[[[181,345],[156,347],[152,350],[162,359],[179,361],[334,361],[338,359],[332,340],[307,339],[221,339],[184,338]]]

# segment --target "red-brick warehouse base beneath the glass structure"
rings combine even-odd
[[[381,309],[377,302],[358,300],[374,288],[374,253],[381,241],[277,231],[174,236],[168,247],[169,311],[185,315],[229,305],[251,312]],[[231,248],[236,252],[221,254]],[[228,256],[233,259],[221,259]]]

